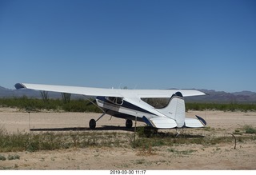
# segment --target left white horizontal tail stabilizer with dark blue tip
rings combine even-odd
[[[174,119],[168,117],[142,117],[143,121],[146,122],[147,125],[150,125],[154,128],[158,129],[171,129],[176,128],[177,124]]]

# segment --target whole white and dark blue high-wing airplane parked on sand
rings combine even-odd
[[[90,129],[106,113],[126,119],[126,127],[131,128],[133,121],[142,121],[156,129],[200,128],[206,125],[202,117],[187,118],[184,97],[205,95],[194,89],[101,89],[78,86],[52,86],[17,83],[16,89],[35,89],[59,93],[75,93],[96,97],[97,105],[103,114],[95,121],[90,120]],[[156,109],[142,101],[142,98],[169,97],[166,107]]]

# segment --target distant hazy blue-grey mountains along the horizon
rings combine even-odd
[[[236,93],[226,93],[224,91],[215,91],[207,89],[198,89],[208,95],[198,97],[186,97],[187,102],[216,102],[216,103],[256,103],[256,93],[242,91]],[[61,93],[48,93],[50,98],[62,98]],[[0,97],[34,97],[41,98],[41,93],[32,89],[6,89],[0,86]],[[84,98],[82,95],[71,95],[72,99]]]

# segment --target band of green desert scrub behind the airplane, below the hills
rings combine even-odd
[[[145,99],[144,99],[145,100]],[[94,101],[94,99],[90,99]],[[98,109],[97,106],[92,104],[89,100],[78,99],[62,101],[60,99],[49,99],[43,101],[42,99],[28,98],[24,97],[12,97],[12,98],[0,98],[0,106],[2,107],[14,107],[18,109],[26,109],[28,111],[33,110],[64,110],[66,112],[96,112],[102,113],[102,110]],[[145,100],[151,105],[162,106],[162,102],[165,101],[153,101],[152,99]],[[94,101],[95,103],[95,101]],[[155,104],[157,103],[157,104]],[[215,109],[222,111],[256,111],[256,104],[238,104],[238,103],[198,103],[198,102],[186,102],[186,111],[187,110],[206,110],[206,109]]]

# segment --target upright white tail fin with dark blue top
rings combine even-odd
[[[185,123],[186,115],[185,101],[182,93],[174,93],[170,98],[169,104],[163,109],[158,109],[158,111],[167,117],[174,119],[178,128],[182,127]]]

